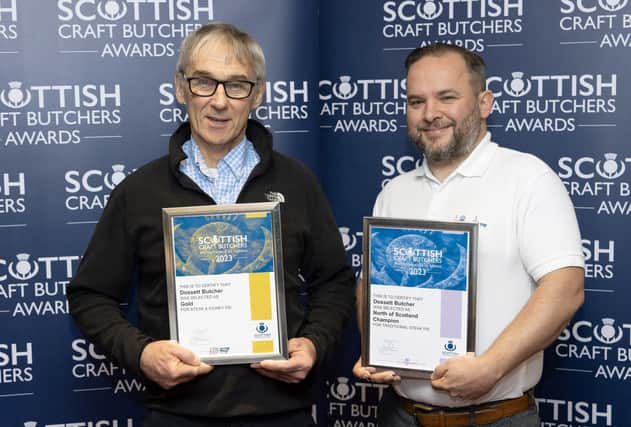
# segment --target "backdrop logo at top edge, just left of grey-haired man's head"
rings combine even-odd
[[[62,53],[172,57],[213,10],[213,0],[58,0],[56,37]]]

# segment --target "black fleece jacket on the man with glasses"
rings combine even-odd
[[[284,196],[281,230],[287,334],[309,338],[321,364],[352,314],[353,273],[331,209],[312,173],[273,151],[271,134],[259,123],[249,121],[247,137],[261,161],[238,202],[266,202],[266,192]],[[314,398],[317,368],[300,384],[288,385],[261,376],[248,365],[216,366],[210,374],[168,391],[140,372],[143,348],[154,340],[169,339],[161,209],[215,204],[179,171],[185,158],[181,146],[189,138],[190,126],[185,123],[171,137],[167,156],[141,167],[114,189],[68,286],[70,312],[83,334],[104,354],[144,379],[149,408],[205,417],[305,408]],[[135,273],[138,327],[120,308]]]

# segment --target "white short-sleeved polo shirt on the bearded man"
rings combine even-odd
[[[562,267],[584,267],[574,208],[557,175],[538,158],[499,147],[487,133],[444,182],[427,162],[393,179],[374,216],[479,222],[476,349],[484,352],[528,301],[536,281]],[[403,379],[396,391],[437,406],[519,397],[541,378],[539,352],[476,402],[454,400],[429,380]]]

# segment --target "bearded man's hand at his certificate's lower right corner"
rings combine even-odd
[[[438,365],[432,373],[432,387],[453,398],[476,400],[491,390],[499,375],[473,353],[454,357]]]

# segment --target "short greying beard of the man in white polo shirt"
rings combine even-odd
[[[453,138],[443,147],[428,150],[429,144],[426,145],[423,140],[421,126],[408,130],[408,135],[427,160],[441,163],[469,155],[478,142],[481,126],[480,109],[476,106],[460,125],[454,127]]]

